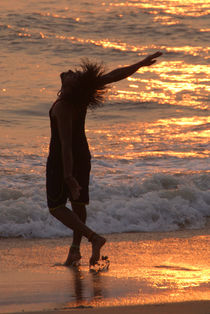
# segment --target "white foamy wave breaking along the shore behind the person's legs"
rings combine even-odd
[[[87,224],[96,232],[171,231],[202,228],[210,216],[207,172],[139,176],[117,167],[91,176]],[[125,165],[124,165],[125,166]],[[112,170],[116,173],[113,175]],[[9,176],[8,176],[9,180]],[[1,237],[60,237],[72,232],[47,209],[43,175],[21,175],[0,191]]]

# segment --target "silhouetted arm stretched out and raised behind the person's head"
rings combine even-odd
[[[123,68],[115,69],[115,70],[113,70],[107,74],[104,74],[101,77],[102,84],[106,85],[106,84],[110,84],[113,82],[123,80],[126,77],[131,76],[139,68],[141,68],[143,66],[149,66],[149,65],[154,64],[156,62],[156,60],[154,60],[154,59],[160,57],[161,55],[162,55],[162,52],[158,51],[152,55],[149,55],[148,57],[146,57],[142,61],[139,61],[135,64],[132,64],[132,65],[129,65],[129,66],[126,66]]]

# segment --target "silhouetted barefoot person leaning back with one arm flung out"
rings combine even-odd
[[[85,135],[88,108],[96,108],[103,99],[107,84],[120,81],[140,67],[156,62],[160,52],[133,65],[107,74],[102,67],[89,62],[81,71],[61,73],[61,90],[50,109],[51,142],[47,160],[47,200],[50,213],[73,229],[73,242],[65,265],[80,260],[80,243],[85,236],[92,244],[90,265],[100,258],[100,249],[106,240],[85,225],[86,204],[89,203],[90,151]],[[66,207],[70,200],[72,211]]]

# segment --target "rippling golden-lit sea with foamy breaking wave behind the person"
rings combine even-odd
[[[82,58],[106,71],[156,51],[89,111],[87,224],[99,233],[197,229],[210,216],[207,0],[1,0],[0,237],[72,232],[49,215],[48,111]]]

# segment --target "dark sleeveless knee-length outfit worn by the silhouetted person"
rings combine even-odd
[[[52,106],[53,108],[53,106]],[[49,156],[47,158],[46,188],[47,203],[50,209],[65,205],[67,199],[72,203],[89,203],[89,177],[91,169],[91,155],[85,135],[86,106],[78,106],[72,119],[72,154],[73,176],[81,186],[80,196],[73,200],[64,180],[61,141],[59,138],[56,119],[49,112],[51,140]]]

